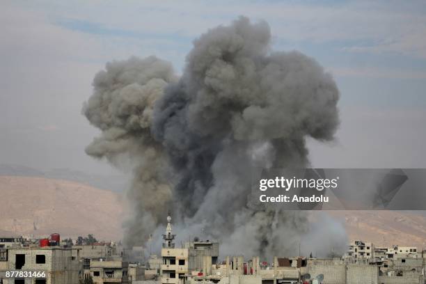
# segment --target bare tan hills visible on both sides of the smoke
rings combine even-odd
[[[78,182],[47,178],[0,176],[0,234],[122,239],[123,202],[119,194]],[[345,222],[349,239],[377,245],[426,242],[423,212],[329,211]],[[425,246],[426,247],[426,246]]]

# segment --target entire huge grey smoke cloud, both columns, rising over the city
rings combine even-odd
[[[316,61],[270,41],[267,23],[241,17],[195,40],[180,79],[155,57],[97,74],[84,114],[102,134],[86,152],[134,161],[127,244],[143,244],[173,208],[182,238],[202,231],[226,253],[297,252],[308,214],[253,203],[251,170],[308,166],[306,137],[333,139],[339,93]]]

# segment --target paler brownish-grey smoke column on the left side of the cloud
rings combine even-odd
[[[102,130],[86,148],[88,155],[113,164],[127,156],[134,162],[134,180],[127,192],[135,216],[126,224],[129,242],[145,239],[164,219],[171,184],[164,176],[166,153],[151,136],[152,111],[164,88],[176,81],[170,63],[154,56],[107,63],[93,80],[93,95],[83,112]],[[161,209],[160,209],[161,208]]]

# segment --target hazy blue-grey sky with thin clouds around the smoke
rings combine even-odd
[[[239,15],[338,83],[342,124],[310,141],[313,166],[426,168],[425,1],[1,1],[0,164],[109,173],[84,153],[95,72],[155,54],[180,73],[194,38]]]

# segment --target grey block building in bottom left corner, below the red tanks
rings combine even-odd
[[[3,249],[0,256],[0,283],[3,284],[75,284],[79,282],[79,261],[72,257],[72,248],[58,246],[8,248]],[[22,274],[6,278],[6,271],[18,271]],[[30,272],[31,277],[28,276]],[[37,272],[40,274],[37,275]]]

